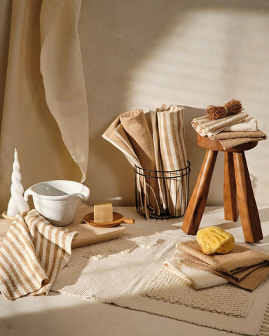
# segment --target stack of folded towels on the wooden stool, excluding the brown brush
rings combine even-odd
[[[202,116],[194,118],[191,125],[202,137],[218,140],[224,151],[247,142],[267,139],[266,134],[258,130],[257,121],[246,112],[216,120]]]

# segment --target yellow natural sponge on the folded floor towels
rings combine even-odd
[[[229,232],[209,226],[198,230],[196,239],[205,254],[226,254],[233,250],[235,238]]]

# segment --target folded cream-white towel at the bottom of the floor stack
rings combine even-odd
[[[165,260],[163,265],[172,273],[187,281],[188,284],[195,289],[208,288],[228,283],[228,280],[212,272],[187,267],[181,263],[184,259],[184,257],[175,256]]]

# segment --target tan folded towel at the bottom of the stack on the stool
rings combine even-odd
[[[246,144],[247,142],[266,140],[267,135],[261,130],[257,130],[254,132],[220,132],[209,138],[218,140],[221,147],[226,150],[228,148]]]

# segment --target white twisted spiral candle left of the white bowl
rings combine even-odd
[[[24,189],[22,183],[20,183],[21,179],[20,163],[15,149],[13,172],[11,174],[11,199],[8,202],[7,216],[14,217],[18,213],[22,214],[25,211],[29,211],[29,205],[23,198]]]

